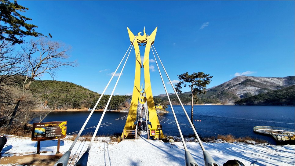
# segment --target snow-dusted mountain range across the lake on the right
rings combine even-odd
[[[295,84],[295,77],[254,77],[237,76],[218,86],[206,89],[205,94],[197,95],[198,103],[201,104],[234,104],[239,99],[255,96],[261,93],[282,89]],[[179,94],[183,104],[191,103],[191,92]],[[167,100],[167,95],[154,96]],[[179,104],[175,94],[169,94],[173,104]]]

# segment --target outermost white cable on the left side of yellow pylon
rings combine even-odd
[[[135,36],[135,38],[136,38],[136,36]],[[133,39],[133,42],[134,42],[135,38]],[[131,45],[132,45],[132,43],[130,44],[129,48],[131,47]],[[133,45],[132,45],[132,46],[133,46]],[[101,93],[101,95],[100,95],[99,99],[97,100],[97,102],[96,102],[95,106],[93,107],[92,111],[90,112],[90,114],[89,114],[89,116],[87,117],[86,121],[84,122],[84,124],[83,124],[83,126],[82,126],[82,128],[81,128],[80,132],[78,133],[78,135],[77,135],[76,139],[74,140],[74,142],[72,143],[72,145],[71,145],[71,147],[70,147],[70,149],[69,149],[68,151],[71,151],[71,150],[73,149],[73,147],[75,146],[75,144],[76,144],[77,140],[79,139],[79,137],[80,137],[80,135],[81,135],[82,131],[84,130],[84,128],[85,128],[86,124],[88,123],[88,121],[89,121],[90,117],[92,116],[92,114],[93,114],[93,112],[94,112],[95,108],[97,107],[97,105],[98,105],[98,103],[99,103],[100,99],[101,99],[101,98],[102,98],[102,96],[104,95],[104,92],[106,91],[106,89],[107,89],[108,85],[109,85],[109,84],[110,84],[110,82],[112,81],[112,79],[113,79],[114,75],[116,74],[116,72],[117,72],[117,70],[118,70],[119,66],[120,66],[120,65],[121,65],[121,63],[122,63],[122,61],[124,60],[124,58],[125,58],[125,56],[126,56],[126,54],[127,54],[128,50],[129,50],[129,48],[127,49],[127,51],[126,51],[125,55],[123,56],[123,58],[122,58],[121,62],[120,62],[120,63],[119,63],[119,65],[118,65],[117,69],[115,70],[114,74],[112,75],[112,77],[111,77],[110,81],[107,83],[107,86],[104,88],[104,91]],[[132,49],[132,48],[131,48],[131,49]],[[130,50],[131,50],[131,49],[130,49]]]

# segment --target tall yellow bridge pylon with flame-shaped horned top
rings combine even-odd
[[[136,129],[136,124],[134,122],[137,122],[137,107],[138,103],[144,104],[147,103],[147,109],[148,109],[148,115],[147,115],[147,122],[149,121],[149,124],[147,124],[148,129],[150,131],[150,136],[153,136],[153,138],[164,138],[163,132],[158,130],[158,125],[160,125],[153,94],[151,91],[151,79],[150,79],[150,70],[149,70],[149,52],[151,49],[151,45],[154,44],[157,28],[151,33],[151,35],[147,35],[145,33],[144,28],[144,35],[141,36],[141,32],[135,36],[127,27],[130,42],[133,42],[133,39],[135,38],[134,42],[132,43],[135,50],[135,76],[134,76],[134,86],[133,86],[133,94],[130,104],[129,113],[127,116],[126,124],[124,127],[124,131],[122,133],[121,138],[123,136],[127,137],[128,135],[132,134],[132,131]],[[139,46],[145,45],[145,51],[144,51],[144,60],[143,63],[141,63],[140,59],[140,50]],[[142,86],[140,87],[140,69],[144,68],[144,89],[142,89]],[[143,92],[142,92],[143,91]],[[160,137],[161,135],[161,137]]]

